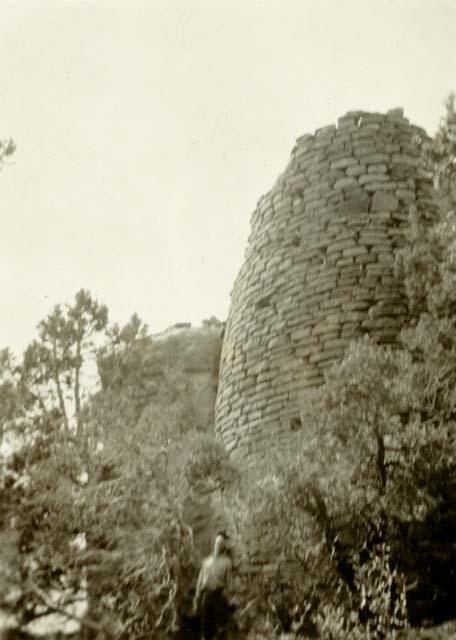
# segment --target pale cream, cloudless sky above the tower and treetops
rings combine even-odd
[[[124,323],[223,320],[294,141],[456,90],[455,0],[0,1],[0,348],[87,288]]]

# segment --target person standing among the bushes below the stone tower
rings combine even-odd
[[[232,590],[228,536],[219,532],[211,555],[202,562],[196,585],[194,611],[200,618],[202,640],[224,637],[232,620]]]

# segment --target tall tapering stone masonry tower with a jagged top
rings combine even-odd
[[[417,136],[401,109],[354,111],[297,140],[252,215],[231,294],[216,432],[243,458],[290,442],[299,394],[349,342],[394,343],[407,306],[394,277],[409,209],[432,211]]]

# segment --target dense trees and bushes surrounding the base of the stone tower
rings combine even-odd
[[[0,437],[21,445],[0,471],[0,601],[19,626],[54,610],[81,638],[175,633],[200,560],[188,505],[208,499],[236,562],[278,561],[238,584],[241,637],[386,638],[455,616],[453,98],[423,166],[439,214],[411,211],[397,257],[411,318],[400,345],[353,343],[302,397],[292,448],[254,469],[202,428],[141,320],[109,327],[87,291],[20,361],[2,352]]]

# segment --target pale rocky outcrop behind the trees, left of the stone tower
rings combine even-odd
[[[151,405],[172,405],[184,413],[182,428],[213,431],[223,326],[179,323],[110,346],[97,361],[102,390],[124,398],[136,420]]]

